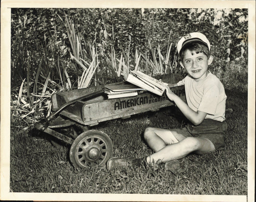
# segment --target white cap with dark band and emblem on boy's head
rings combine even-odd
[[[203,45],[206,45],[208,47],[208,49],[211,49],[211,45],[209,40],[206,38],[206,36],[200,32],[193,32],[190,34],[186,34],[185,36],[183,36],[180,41],[177,44],[177,51],[178,54],[180,54],[180,51],[182,50],[182,48],[184,47],[184,45],[193,43],[193,42],[197,42]]]

